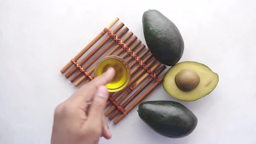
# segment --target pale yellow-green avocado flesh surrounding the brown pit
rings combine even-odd
[[[178,88],[175,77],[183,70],[192,70],[197,73],[200,82],[196,88],[184,92]],[[181,101],[196,101],[213,91],[219,82],[219,76],[209,67],[198,62],[180,62],[172,66],[164,76],[164,90],[174,98]]]

